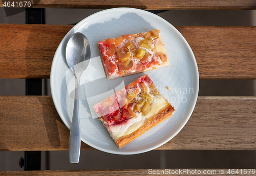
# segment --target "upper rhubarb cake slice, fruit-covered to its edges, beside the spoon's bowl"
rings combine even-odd
[[[157,29],[108,38],[99,41],[98,45],[106,76],[110,80],[169,64]]]

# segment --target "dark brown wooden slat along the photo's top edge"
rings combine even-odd
[[[0,2],[0,7],[3,7],[3,2]],[[10,0],[9,2],[13,2]],[[16,3],[16,1],[14,1]],[[10,4],[11,4],[10,3]],[[24,5],[23,5],[24,6]],[[6,6],[5,6],[6,7]],[[12,6],[13,7],[13,6]],[[14,4],[14,7],[20,5]],[[27,7],[27,6],[26,6]],[[140,0],[140,1],[125,1],[125,0],[91,0],[91,1],[68,1],[68,0],[40,0],[32,1],[32,7],[36,8],[94,8],[105,9],[115,7],[132,7],[139,9],[222,9],[222,10],[237,10],[237,9],[255,9],[254,0]]]

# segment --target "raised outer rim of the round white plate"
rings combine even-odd
[[[94,17],[95,17],[96,15],[98,15],[98,14],[107,13],[107,12],[109,12],[109,11],[112,11],[112,12],[113,12],[113,11],[115,11],[115,10],[125,10],[126,12],[131,12],[131,11],[133,11],[133,12],[135,12],[135,13],[136,13],[136,12],[146,13],[146,14],[148,14],[148,15],[153,15],[154,17],[156,17],[156,18],[162,20],[163,22],[165,22],[165,24],[168,24],[168,26],[169,26],[170,28],[172,28],[172,29],[176,32],[176,34],[179,35],[179,37],[181,37],[181,39],[183,40],[183,43],[186,45],[186,47],[187,47],[187,49],[188,49],[188,51],[189,51],[189,55],[190,55],[191,59],[193,59],[193,67],[194,67],[194,69],[195,69],[195,70],[193,70],[193,71],[195,71],[195,74],[196,74],[196,78],[195,78],[195,89],[196,89],[196,92],[194,93],[193,98],[192,98],[192,100],[191,100],[191,104],[190,104],[190,106],[189,106],[189,109],[187,110],[187,114],[188,114],[188,115],[187,115],[187,118],[186,118],[186,120],[184,120],[184,121],[181,123],[179,130],[177,130],[173,135],[169,136],[166,140],[163,140],[162,142],[160,142],[160,143],[154,145],[153,147],[149,147],[149,148],[146,148],[146,149],[143,149],[143,150],[139,150],[138,152],[114,152],[113,150],[110,151],[110,150],[108,150],[108,149],[104,149],[104,148],[102,148],[102,147],[95,146],[95,145],[92,144],[91,142],[88,142],[88,141],[87,141],[87,142],[84,142],[84,141],[82,141],[82,142],[84,142],[84,143],[90,145],[91,147],[96,148],[96,149],[101,150],[102,152],[106,152],[106,153],[121,154],[121,155],[141,154],[141,153],[145,153],[145,152],[148,152],[148,151],[150,151],[150,150],[153,150],[153,149],[155,149],[155,148],[158,148],[159,146],[165,144],[165,143],[168,142],[169,140],[173,139],[173,138],[184,128],[185,124],[187,123],[187,121],[189,120],[189,118],[191,117],[191,114],[193,113],[193,111],[194,111],[194,109],[195,109],[195,106],[196,106],[196,103],[197,103],[197,99],[198,99],[198,92],[199,92],[199,71],[198,71],[198,65],[197,65],[197,61],[196,61],[195,55],[194,55],[194,53],[193,53],[191,47],[189,46],[188,42],[186,41],[186,39],[184,38],[184,36],[183,36],[172,24],[170,24],[168,21],[166,21],[165,19],[163,19],[162,17],[160,17],[160,16],[158,16],[158,15],[156,15],[156,14],[154,14],[154,13],[151,13],[151,12],[148,12],[148,11],[145,11],[145,10],[141,10],[141,9],[127,8],[127,7],[118,7],[118,8],[111,8],[111,9],[102,10],[102,11],[93,13],[93,14],[89,15],[88,17],[86,17],[86,18],[82,19],[81,21],[79,21],[79,22],[78,22],[74,27],[72,27],[72,28],[70,29],[70,31],[62,38],[61,42],[59,43],[59,45],[58,45],[58,47],[57,47],[57,49],[56,49],[56,51],[55,51],[55,54],[54,54],[54,57],[53,57],[53,61],[52,61],[52,65],[53,65],[55,62],[57,62],[57,61],[56,61],[57,59],[55,59],[55,58],[56,58],[55,55],[56,55],[58,49],[61,49],[61,48],[60,48],[60,44],[63,43],[63,41],[65,40],[65,38],[66,38],[68,35],[70,35],[70,34],[74,31],[75,28],[80,28],[80,25],[83,24],[84,21],[86,21],[86,20],[88,20],[88,19],[90,19],[90,18],[94,18]],[[52,78],[51,75],[53,75],[53,74],[54,74],[54,70],[53,70],[53,67],[51,66],[51,72],[50,72],[50,88],[51,88],[51,92],[54,92],[54,90],[53,90],[53,87],[54,87],[53,85],[54,85],[54,83],[53,83],[53,79],[51,79],[51,78]],[[60,112],[59,106],[58,106],[58,103],[57,103],[57,99],[55,99],[55,98],[56,98],[55,95],[52,93],[52,99],[53,99],[53,103],[54,103],[55,109],[57,110],[57,113],[58,113],[59,117],[61,118],[62,122],[63,122],[63,123],[66,125],[66,127],[70,130],[70,125],[68,124],[67,120],[65,120],[65,119],[63,119],[63,117],[61,117],[62,112]],[[58,108],[57,108],[57,107],[58,107]],[[60,108],[60,109],[61,109],[61,108]],[[61,115],[60,115],[60,114],[61,114]]]

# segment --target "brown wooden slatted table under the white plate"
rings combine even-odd
[[[0,2],[3,7],[3,2]],[[36,8],[256,9],[247,1],[50,1]],[[73,26],[0,24],[0,78],[50,78],[52,59]],[[176,27],[193,50],[200,79],[256,79],[256,27]],[[51,42],[48,42],[51,39]],[[40,42],[35,42],[35,41]],[[15,45],[13,45],[15,43]],[[40,64],[38,64],[40,63]],[[68,150],[69,130],[51,96],[0,96],[0,150]],[[181,132],[158,150],[255,150],[255,96],[199,96]],[[20,135],[23,134],[23,135]],[[36,138],[34,138],[36,136]],[[51,138],[49,138],[51,136]],[[18,142],[18,143],[17,143]],[[35,145],[36,144],[36,145]],[[94,149],[82,143],[83,150]],[[137,170],[14,171],[0,175],[148,174]],[[228,175],[228,173],[225,173]],[[248,174],[247,174],[248,175]]]

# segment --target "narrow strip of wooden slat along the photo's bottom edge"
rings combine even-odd
[[[234,171],[234,173],[233,173]],[[165,169],[111,169],[111,170],[43,170],[43,171],[5,171],[0,172],[0,175],[3,176],[11,176],[11,175],[20,175],[20,176],[40,176],[40,175],[48,175],[48,176],[65,176],[65,175],[255,175],[255,169],[238,169],[238,173],[236,173],[237,169],[178,169],[178,168],[165,168]]]

